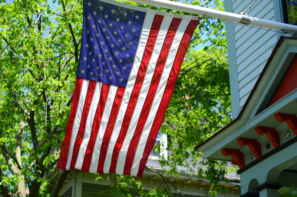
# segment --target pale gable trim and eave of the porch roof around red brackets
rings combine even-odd
[[[275,92],[276,85],[280,83],[283,75],[286,74],[287,68],[296,53],[297,38],[280,37],[238,117],[205,142],[195,147],[204,153],[206,159],[231,161],[232,157],[225,157],[222,155],[221,150],[223,148],[234,148],[240,149],[244,153],[244,160],[247,161],[246,165],[254,161],[255,158],[249,160],[249,155],[247,155],[248,152],[251,152],[250,149],[247,146],[240,147],[237,144],[238,137],[256,138],[262,144],[262,157],[271,151],[271,148],[274,148],[271,147],[268,151],[264,149],[265,147],[263,148],[263,143],[268,141],[267,136],[257,134],[255,127],[274,127],[276,130],[281,131],[281,135],[288,129],[285,123],[282,124],[275,120],[274,114],[277,112],[286,113],[288,110],[294,112],[291,109],[295,105],[297,109],[297,90],[285,95],[270,107],[266,108],[266,106],[271,100],[271,95]],[[282,109],[284,106],[287,106],[286,109]],[[293,114],[297,114],[297,110]],[[267,125],[267,122],[269,122],[269,125]],[[281,136],[282,142],[286,141],[283,138]],[[214,144],[216,146],[213,146]]]

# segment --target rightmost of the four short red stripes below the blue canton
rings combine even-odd
[[[105,133],[104,133],[103,140],[102,140],[102,145],[101,145],[100,155],[99,155],[99,162],[98,162],[98,167],[97,167],[97,173],[103,173],[103,165],[104,165],[104,161],[105,161],[105,157],[106,157],[108,143],[109,143],[112,131],[113,131],[113,126],[116,122],[116,117],[119,112],[121,101],[122,101],[122,98],[124,95],[124,90],[125,90],[125,87],[118,87],[118,89],[116,91],[116,96],[113,101],[113,106],[111,108],[107,127],[105,129]]]

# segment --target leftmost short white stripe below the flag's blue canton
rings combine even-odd
[[[86,95],[88,92],[88,85],[89,85],[89,80],[84,79],[83,84],[81,85],[78,107],[77,107],[77,110],[75,113],[75,120],[74,120],[73,127],[72,127],[72,134],[71,134],[66,170],[70,169],[70,163],[71,163],[72,154],[73,154],[73,147],[74,147],[76,136],[78,134],[78,129],[80,126],[81,115],[83,113],[83,106],[85,104],[85,99],[86,99]]]

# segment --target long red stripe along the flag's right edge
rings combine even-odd
[[[198,23],[199,23],[199,21],[191,20],[185,33],[184,33],[184,36],[181,39],[181,43],[178,47],[178,52],[176,54],[176,57],[175,57],[175,60],[173,63],[173,67],[171,69],[171,72],[170,72],[170,75],[168,78],[168,82],[165,87],[163,97],[161,99],[160,107],[157,111],[153,126],[151,128],[151,132],[149,134],[149,138],[146,142],[146,147],[144,149],[143,157],[140,160],[139,170],[138,170],[138,174],[137,174],[138,177],[142,177],[146,162],[149,158],[149,154],[151,153],[151,150],[154,147],[154,143],[156,141],[156,138],[157,138],[157,135],[159,132],[159,128],[162,124],[167,106],[170,101],[170,97],[173,93],[173,88],[175,86],[176,79],[178,77],[178,72],[181,67],[181,63],[182,63],[184,55],[187,51],[187,46],[189,45],[190,39],[191,39],[193,32],[195,31],[195,28],[197,27]]]

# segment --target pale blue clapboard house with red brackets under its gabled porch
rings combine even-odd
[[[224,2],[225,11],[240,13],[254,0]],[[296,10],[295,1],[264,0],[255,2],[248,15],[296,25]],[[196,148],[206,159],[238,166],[242,197],[294,193],[296,35],[233,23],[226,23],[226,31],[233,121]]]

